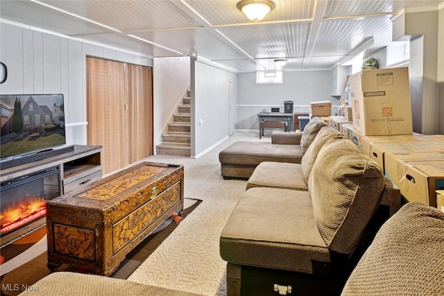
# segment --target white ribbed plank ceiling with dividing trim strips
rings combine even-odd
[[[237,2],[1,0],[0,20],[150,58],[198,56],[237,72],[273,70],[273,60],[287,58],[291,71],[331,69],[357,46],[370,55],[392,41],[393,15],[437,10],[444,0],[274,0],[257,23]]]

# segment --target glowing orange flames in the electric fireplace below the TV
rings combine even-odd
[[[22,202],[17,207],[6,209],[4,213],[0,214],[0,232],[9,232],[44,215],[46,215],[46,200],[44,198],[26,199],[26,202]]]

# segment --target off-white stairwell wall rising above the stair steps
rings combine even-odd
[[[162,134],[178,112],[178,105],[187,95],[190,84],[189,57],[155,58],[153,61],[154,87],[154,146],[162,143]]]

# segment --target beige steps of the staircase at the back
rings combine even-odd
[[[162,134],[162,143],[156,146],[157,154],[191,155],[190,92],[182,98],[173,122],[168,123],[168,132]]]

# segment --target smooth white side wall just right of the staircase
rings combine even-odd
[[[191,157],[230,135],[230,82],[237,74],[191,60]]]

